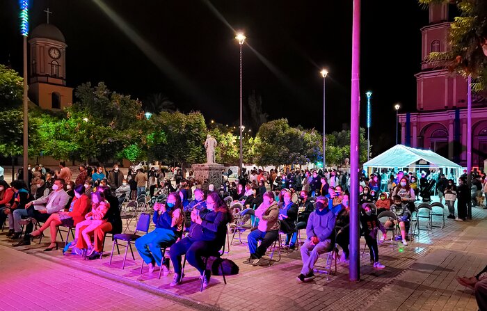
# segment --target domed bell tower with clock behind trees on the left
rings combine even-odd
[[[66,86],[67,45],[63,33],[49,22],[40,24],[33,29],[29,45],[29,98],[42,109],[70,106],[73,89]]]

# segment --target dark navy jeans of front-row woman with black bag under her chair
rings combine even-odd
[[[188,263],[198,269],[202,275],[206,266],[201,257],[216,253],[219,248],[215,244],[215,241],[195,241],[190,237],[185,237],[173,244],[169,253],[170,260],[173,262],[174,273],[181,275],[181,256],[186,254]]]

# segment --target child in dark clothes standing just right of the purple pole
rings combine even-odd
[[[381,230],[382,234],[386,234],[386,231],[382,223],[378,221],[377,215],[372,214],[372,209],[369,205],[362,209],[360,223],[362,223],[362,233],[365,237],[365,243],[369,246],[370,262],[374,262],[374,268],[384,269],[385,266],[378,261],[377,232]]]

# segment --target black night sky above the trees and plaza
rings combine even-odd
[[[319,71],[327,67],[330,132],[350,120],[351,4],[33,0],[30,22],[32,31],[46,22],[43,10],[54,12],[50,22],[61,29],[68,45],[68,86],[105,81],[111,90],[139,99],[163,93],[179,110],[199,110],[207,120],[223,124],[238,120],[239,45],[232,28],[243,30],[248,43],[243,56],[244,103],[255,90],[271,119],[285,117],[291,125],[321,131]],[[414,74],[420,70],[420,28],[427,18],[427,10],[414,0],[362,1],[361,125],[365,127],[365,92],[372,90],[375,154],[394,144],[394,104],[401,103],[401,112],[415,111]],[[10,54],[13,69],[22,72],[18,29],[17,1],[1,1],[0,63],[6,64]]]

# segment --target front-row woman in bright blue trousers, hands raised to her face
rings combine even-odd
[[[149,265],[149,273],[154,271],[156,264],[164,269],[165,274],[168,272],[169,262],[162,257],[161,247],[169,247],[175,244],[182,232],[183,221],[182,201],[177,193],[170,193],[166,204],[154,204],[152,222],[156,228],[135,241],[138,254]]]

